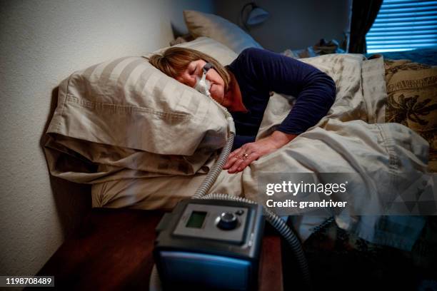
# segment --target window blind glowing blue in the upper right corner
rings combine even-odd
[[[383,0],[366,44],[368,53],[437,46],[437,1]]]

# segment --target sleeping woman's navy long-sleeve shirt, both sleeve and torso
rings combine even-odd
[[[233,148],[255,141],[270,92],[296,97],[296,103],[277,128],[300,134],[316,125],[336,98],[336,84],[326,73],[288,56],[260,48],[246,48],[228,66],[240,86],[247,113],[233,112]]]

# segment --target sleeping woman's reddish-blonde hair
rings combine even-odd
[[[224,81],[224,91],[228,91],[229,83],[231,83],[231,76],[229,76],[226,68],[221,66],[221,64],[218,63],[215,58],[208,56],[206,53],[202,53],[201,51],[196,51],[192,48],[167,48],[164,53],[156,53],[153,56],[150,56],[149,63],[165,73],[167,76],[176,78],[183,71],[185,71],[186,67],[189,65],[189,63],[191,63],[191,61],[197,61],[199,59],[213,64],[214,69]]]

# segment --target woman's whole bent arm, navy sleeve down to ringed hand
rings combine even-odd
[[[253,81],[262,83],[268,91],[295,96],[296,103],[277,131],[253,143],[234,150],[223,167],[236,173],[253,160],[277,150],[326,116],[336,96],[336,86],[326,73],[278,53],[249,48],[238,58],[248,71],[256,72]]]

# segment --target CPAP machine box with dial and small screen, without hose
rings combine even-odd
[[[163,290],[256,290],[263,226],[260,205],[181,201],[156,228]]]

